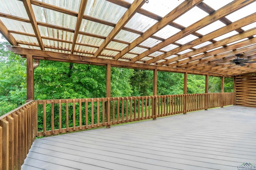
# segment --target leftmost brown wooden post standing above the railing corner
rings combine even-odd
[[[27,58],[27,100],[34,100],[33,56],[26,55],[26,58]]]

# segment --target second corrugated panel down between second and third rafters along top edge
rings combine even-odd
[[[80,31],[96,35],[108,36],[113,27],[82,19]]]

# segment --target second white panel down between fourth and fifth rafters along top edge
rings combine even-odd
[[[196,21],[199,21],[208,15],[209,14],[207,12],[204,12],[196,6],[179,18],[177,18],[176,20],[174,20],[174,22],[183,25],[184,27],[188,27],[189,25],[192,25]]]

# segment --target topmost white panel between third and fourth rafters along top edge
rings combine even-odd
[[[150,0],[142,6],[143,9],[158,16],[164,17],[184,0]]]

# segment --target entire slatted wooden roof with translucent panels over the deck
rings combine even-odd
[[[255,73],[256,0],[8,0],[0,33],[34,59],[194,74]],[[28,50],[31,49],[31,50]],[[241,57],[241,56],[240,56]]]

